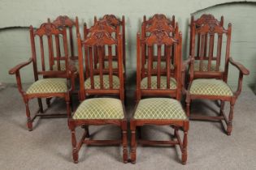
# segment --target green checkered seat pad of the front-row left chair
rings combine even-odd
[[[76,109],[73,119],[123,119],[121,100],[113,98],[94,98],[84,100]]]

